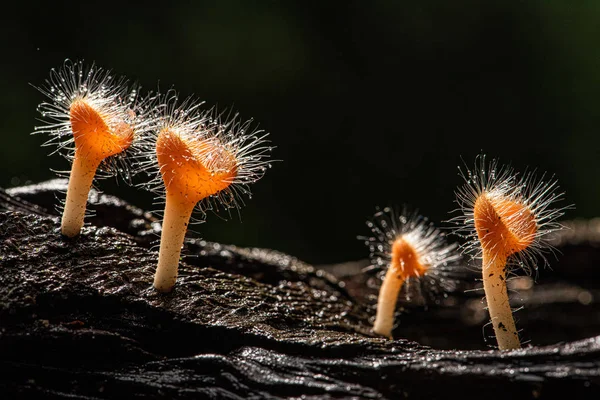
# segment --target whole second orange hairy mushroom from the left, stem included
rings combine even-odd
[[[192,99],[178,104],[174,93],[165,97],[157,134],[147,146],[148,154],[154,151],[147,167],[158,166],[166,200],[154,276],[154,287],[160,292],[175,285],[196,205],[204,211],[216,199],[219,205],[238,207],[239,192],[249,193],[247,185],[263,176],[272,150],[265,145],[266,134],[247,132],[249,123],[240,124],[236,117],[222,123],[198,111],[200,104]]]

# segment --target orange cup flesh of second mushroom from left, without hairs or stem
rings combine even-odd
[[[237,174],[237,161],[216,138],[187,138],[163,129],[156,140],[156,155],[168,193],[191,203],[226,189]]]

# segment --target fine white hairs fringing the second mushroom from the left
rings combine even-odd
[[[196,161],[213,173],[223,169],[224,153],[235,162],[236,173],[227,178],[227,187],[198,203],[200,219],[194,221],[202,222],[208,210],[239,210],[245,197],[252,197],[250,185],[262,178],[274,161],[270,159],[274,147],[267,140],[269,134],[237,113],[202,109],[204,103],[193,96],[181,100],[174,89],[159,94],[158,99],[153,110],[154,128],[144,136],[136,156],[136,171],[147,175],[140,186],[157,194],[157,203],[164,203],[169,182],[164,182],[161,174],[156,141],[161,132],[169,130],[182,138]]]

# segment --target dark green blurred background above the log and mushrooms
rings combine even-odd
[[[271,133],[276,163],[234,216],[195,230],[322,264],[367,256],[377,205],[442,225],[461,157],[555,173],[565,217],[600,216],[600,2],[17,2],[0,27],[0,186],[67,169],[31,136],[41,85],[84,59],[174,86]],[[101,189],[142,207],[153,196]]]

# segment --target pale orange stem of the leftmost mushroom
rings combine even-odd
[[[75,152],[61,221],[61,231],[65,236],[77,236],[83,226],[88,194],[100,162]]]

